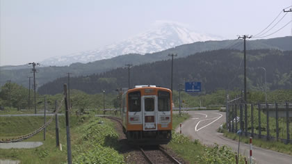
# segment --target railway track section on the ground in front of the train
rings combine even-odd
[[[163,147],[152,146],[152,147],[139,147],[143,155],[149,163],[179,163],[176,158],[168,154]]]

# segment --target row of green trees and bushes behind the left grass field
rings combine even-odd
[[[28,114],[34,113],[33,90],[29,101],[29,89],[16,83],[6,83],[0,88],[0,115],[6,114]],[[11,99],[10,99],[11,97]],[[63,93],[56,95],[36,94],[36,108],[39,112],[44,110],[44,97],[47,99],[47,109],[55,109],[55,101],[63,99]],[[105,101],[103,101],[103,98]],[[29,109],[30,102],[30,110]],[[105,108],[117,108],[117,95],[112,93],[102,93],[88,95],[80,90],[70,90],[70,104],[74,110],[103,110]],[[65,107],[63,106],[64,110]]]

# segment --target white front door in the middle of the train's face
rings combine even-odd
[[[157,97],[144,96],[143,97],[143,130],[151,131],[157,130]]]

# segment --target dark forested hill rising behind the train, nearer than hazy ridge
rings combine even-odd
[[[265,67],[269,90],[292,88],[292,51],[270,49],[247,51],[248,90],[262,90]],[[221,49],[197,53],[174,60],[173,88],[184,81],[201,81],[202,93],[214,90],[243,87],[243,51]],[[163,60],[131,67],[131,87],[134,85],[159,85],[170,88],[171,60]],[[67,78],[60,78],[42,85],[40,94],[62,92]],[[115,92],[117,88],[127,88],[128,69],[117,68],[102,74],[72,77],[70,87],[95,94]]]

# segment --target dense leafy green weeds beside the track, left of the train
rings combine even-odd
[[[101,117],[91,119],[88,124],[76,129],[83,135],[76,140],[73,163],[124,163],[118,154],[118,134],[115,124]]]

